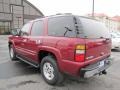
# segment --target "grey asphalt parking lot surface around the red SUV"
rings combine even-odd
[[[44,82],[38,69],[9,58],[8,36],[0,36],[0,90],[120,90],[120,52],[112,51],[114,63],[107,75],[86,80],[68,77],[61,86]]]

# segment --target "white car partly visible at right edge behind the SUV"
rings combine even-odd
[[[118,33],[112,32],[112,49],[120,50],[120,35]]]

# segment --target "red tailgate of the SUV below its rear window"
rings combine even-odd
[[[93,56],[93,58],[103,56],[111,52],[111,40],[86,39],[86,49],[86,58],[90,56]]]

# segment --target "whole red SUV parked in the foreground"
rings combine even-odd
[[[64,74],[81,78],[106,74],[111,64],[110,34],[97,20],[55,15],[30,21],[12,34],[10,58],[40,68],[51,85],[61,83]]]

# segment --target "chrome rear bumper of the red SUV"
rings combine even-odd
[[[104,62],[104,65],[100,65],[100,62]],[[110,57],[101,60],[95,64],[82,68],[80,70],[80,75],[83,78],[90,78],[94,75],[101,74],[102,72],[105,72],[105,70],[112,64],[112,62],[113,62],[113,58]]]

